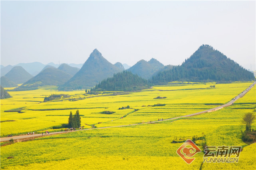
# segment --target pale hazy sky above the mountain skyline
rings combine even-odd
[[[255,1],[1,1],[1,64],[155,58],[178,65],[208,44],[255,70]]]

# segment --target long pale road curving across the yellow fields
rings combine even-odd
[[[200,111],[197,113],[192,113],[189,115],[184,115],[184,116],[179,116],[179,117],[173,117],[170,119],[164,119],[163,121],[167,121],[167,120],[174,120],[174,119],[179,119],[179,118],[183,118],[183,117],[190,117],[190,116],[194,116],[194,115],[200,115],[202,113],[209,113],[212,111],[217,111],[219,109],[222,109],[224,107],[230,106],[232,105],[234,102],[236,102],[236,100],[238,100],[239,98],[242,98],[247,92],[249,92],[249,90],[256,84],[256,81],[253,82],[253,84],[251,84],[248,88],[246,88],[246,90],[244,90],[242,93],[240,93],[238,96],[236,96],[235,98],[233,98],[230,102],[222,105],[222,106],[218,106],[218,107],[214,107],[212,109],[208,109],[205,111]],[[146,123],[156,123],[159,121],[151,121],[151,122],[146,122]],[[81,131],[86,131],[86,130],[92,130],[92,129],[105,129],[105,128],[111,128],[111,127],[125,127],[125,126],[135,126],[135,125],[141,125],[141,124],[146,124],[146,123],[137,123],[137,124],[131,124],[131,125],[119,125],[119,126],[110,126],[110,127],[97,127],[97,128],[91,128],[91,129],[82,129]],[[80,130],[79,130],[80,131]],[[60,132],[52,132],[50,134],[34,134],[34,135],[20,135],[20,136],[13,136],[13,137],[2,137],[0,138],[0,142],[4,142],[4,141],[9,141],[10,139],[13,140],[22,140],[22,139],[33,139],[33,138],[38,138],[38,137],[42,137],[42,136],[49,136],[49,135],[57,135],[57,134],[61,134],[61,133],[69,133],[69,132],[74,132],[74,131],[60,131]]]

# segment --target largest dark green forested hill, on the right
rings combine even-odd
[[[254,75],[238,63],[209,45],[202,45],[181,66],[159,72],[153,76],[154,84],[176,80],[194,82],[232,82],[254,80]]]

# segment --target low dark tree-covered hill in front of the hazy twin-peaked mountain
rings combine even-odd
[[[119,72],[102,80],[91,91],[131,91],[148,88],[148,81],[129,71]]]

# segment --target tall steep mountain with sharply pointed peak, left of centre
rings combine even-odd
[[[82,68],[59,90],[93,87],[101,80],[120,71],[122,71],[121,68],[109,63],[97,49],[94,49]]]

